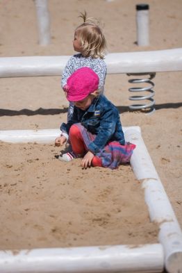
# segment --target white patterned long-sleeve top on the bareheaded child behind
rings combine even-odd
[[[67,84],[67,78],[69,78],[69,76],[71,76],[73,72],[81,67],[90,67],[94,70],[94,72],[99,76],[99,91],[104,92],[104,84],[107,73],[106,63],[101,58],[85,58],[81,55],[81,53],[78,53],[69,58],[62,74],[62,88],[64,88],[64,86]]]

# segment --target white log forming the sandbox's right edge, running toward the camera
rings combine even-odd
[[[158,222],[158,239],[165,251],[165,267],[169,273],[182,272],[182,232],[174,210],[152,163],[140,131],[128,129],[126,139],[136,144],[131,166],[136,178],[143,181],[144,197],[151,221]]]

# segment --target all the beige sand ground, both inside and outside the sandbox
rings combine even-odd
[[[0,57],[72,55],[79,12],[104,25],[109,52],[182,47],[182,1],[150,0],[150,46],[135,44],[135,0],[50,0],[51,44],[38,45],[31,0],[0,0]],[[130,112],[129,77],[108,75],[106,96],[124,126],[140,126],[160,179],[182,225],[182,72],[154,78],[156,111]],[[0,130],[54,129],[66,120],[68,103],[60,77],[1,78]],[[60,163],[60,149],[40,144],[0,144],[1,248],[156,242],[141,185],[129,165],[111,171]]]

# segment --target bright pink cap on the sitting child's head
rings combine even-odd
[[[89,67],[81,67],[69,76],[67,85],[67,100],[81,101],[98,89],[99,77]]]

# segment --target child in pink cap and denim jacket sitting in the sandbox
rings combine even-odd
[[[135,145],[125,142],[117,108],[99,94],[99,77],[89,67],[77,69],[67,80],[67,99],[74,103],[72,119],[60,126],[56,146],[67,139],[72,151],[59,156],[70,161],[83,157],[81,166],[110,167],[128,163]]]

